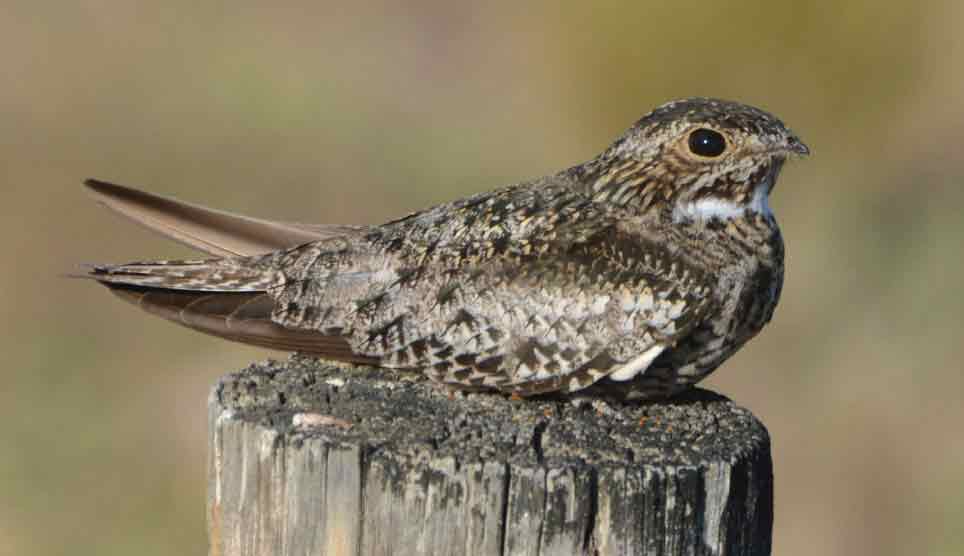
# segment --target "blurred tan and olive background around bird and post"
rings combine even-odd
[[[706,384],[769,427],[774,553],[964,553],[964,4],[359,4],[0,5],[0,554],[203,554],[208,390],[279,356],[60,278],[191,255],[82,179],[377,223],[691,95],[814,153],[771,201],[776,317]]]

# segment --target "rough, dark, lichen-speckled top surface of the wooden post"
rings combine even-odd
[[[748,410],[702,389],[634,404],[519,400],[292,356],[226,375],[212,396],[223,415],[275,429],[288,442],[323,435],[413,461],[705,466],[769,442]]]

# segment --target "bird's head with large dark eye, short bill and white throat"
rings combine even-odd
[[[809,148],[763,110],[689,98],[644,116],[600,155],[596,198],[666,208],[677,219],[769,213],[767,196],[787,157]]]

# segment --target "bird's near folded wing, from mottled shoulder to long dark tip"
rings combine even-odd
[[[631,380],[712,308],[705,277],[605,207],[505,191],[264,256],[95,267],[209,334],[520,395]]]

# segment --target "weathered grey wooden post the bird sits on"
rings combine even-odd
[[[607,410],[293,357],[209,409],[212,555],[770,553],[766,429],[705,390]]]

